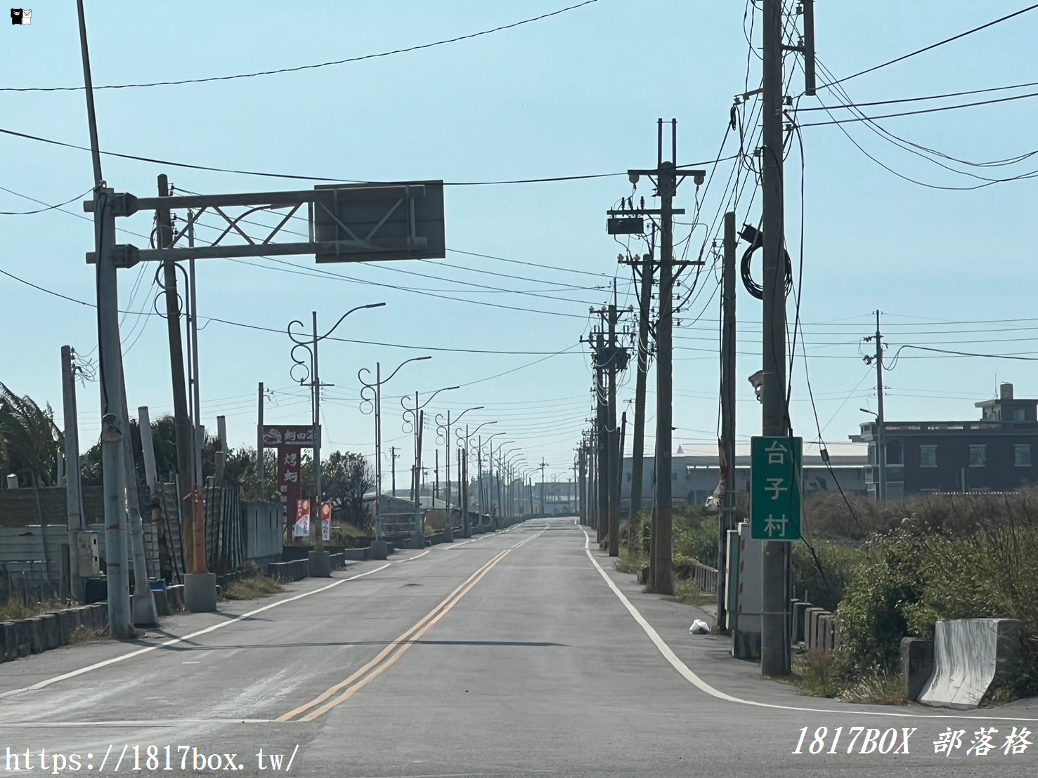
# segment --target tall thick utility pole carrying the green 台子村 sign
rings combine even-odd
[[[761,434],[790,434],[786,407],[786,289],[784,276],[785,213],[783,201],[783,5],[782,0],[763,1],[763,146],[761,148],[761,194],[763,196],[764,310],[763,387]],[[765,540],[762,569],[761,673],[787,675],[790,641],[786,634],[787,557],[789,543]]]

